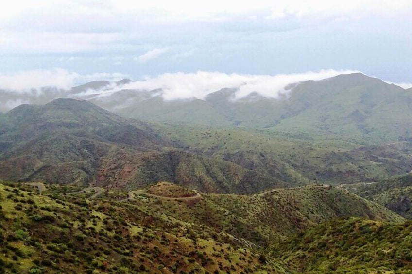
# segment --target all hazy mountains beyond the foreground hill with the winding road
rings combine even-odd
[[[222,89],[169,102],[161,90],[111,89],[129,82],[94,81],[72,89],[88,101],[56,99],[0,114],[2,179],[122,188],[167,180],[251,193],[371,182],[412,169],[410,91],[360,73],[290,85],[279,99],[234,100],[236,90]]]

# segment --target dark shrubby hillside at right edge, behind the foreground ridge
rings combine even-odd
[[[412,219],[412,174],[388,180],[339,186]]]

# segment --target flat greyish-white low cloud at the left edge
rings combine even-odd
[[[122,73],[93,73],[81,75],[62,68],[51,70],[20,71],[12,74],[0,73],[0,89],[19,93],[40,90],[42,87],[69,89],[73,85],[95,80],[118,81],[126,76]]]

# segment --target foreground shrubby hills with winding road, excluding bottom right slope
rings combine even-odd
[[[66,273],[293,273],[289,263],[265,247],[272,250],[274,242],[287,241],[300,228],[336,217],[403,223],[390,210],[323,186],[245,196],[193,192],[162,182],[129,192],[129,200],[125,196],[103,190],[92,198],[87,189],[82,192],[78,187],[0,183],[0,269],[5,273],[62,269]],[[395,223],[385,226],[409,229]],[[351,231],[346,232],[342,237],[350,237]],[[400,239],[385,235],[388,242]],[[397,248],[398,253],[406,250],[403,245]],[[356,250],[355,255],[361,252]],[[387,264],[395,266],[392,260]]]

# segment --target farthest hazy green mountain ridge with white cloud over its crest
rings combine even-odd
[[[236,126],[283,132],[298,139],[344,139],[377,144],[410,138],[412,94],[361,73],[287,87],[278,99],[252,93],[234,99],[236,89],[222,89],[204,100],[164,101],[161,90],[148,99],[141,91],[121,90],[91,99],[123,116],[191,125]],[[127,92],[125,104],[108,106]]]

